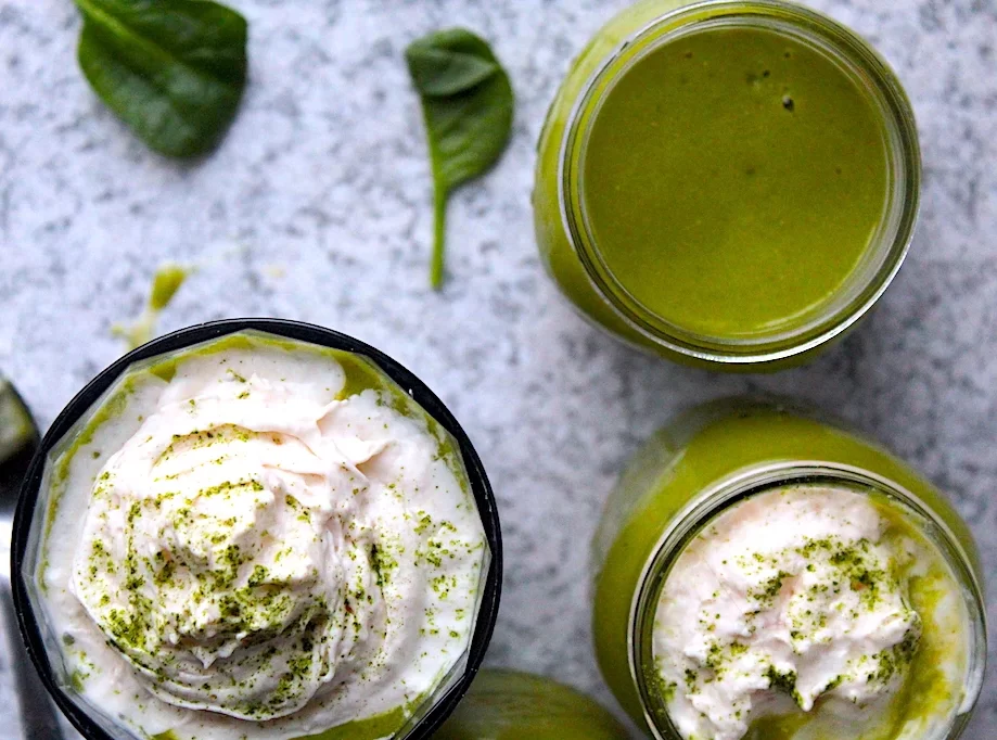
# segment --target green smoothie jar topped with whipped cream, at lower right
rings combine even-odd
[[[985,659],[966,524],[808,412],[691,411],[626,468],[595,545],[599,663],[668,740],[955,738]]]

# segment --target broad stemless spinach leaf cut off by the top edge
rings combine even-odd
[[[209,0],[76,0],[93,90],[168,156],[214,149],[246,84],[246,22]]]

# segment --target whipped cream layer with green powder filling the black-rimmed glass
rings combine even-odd
[[[474,622],[485,539],[449,438],[363,360],[261,341],[120,394],[44,573],[87,699],[146,735],[391,736]]]

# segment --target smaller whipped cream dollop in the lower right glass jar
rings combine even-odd
[[[822,698],[847,715],[896,692],[921,617],[884,528],[867,495],[797,486],[736,505],[689,544],[653,633],[683,738],[739,740],[765,715],[811,712]]]

